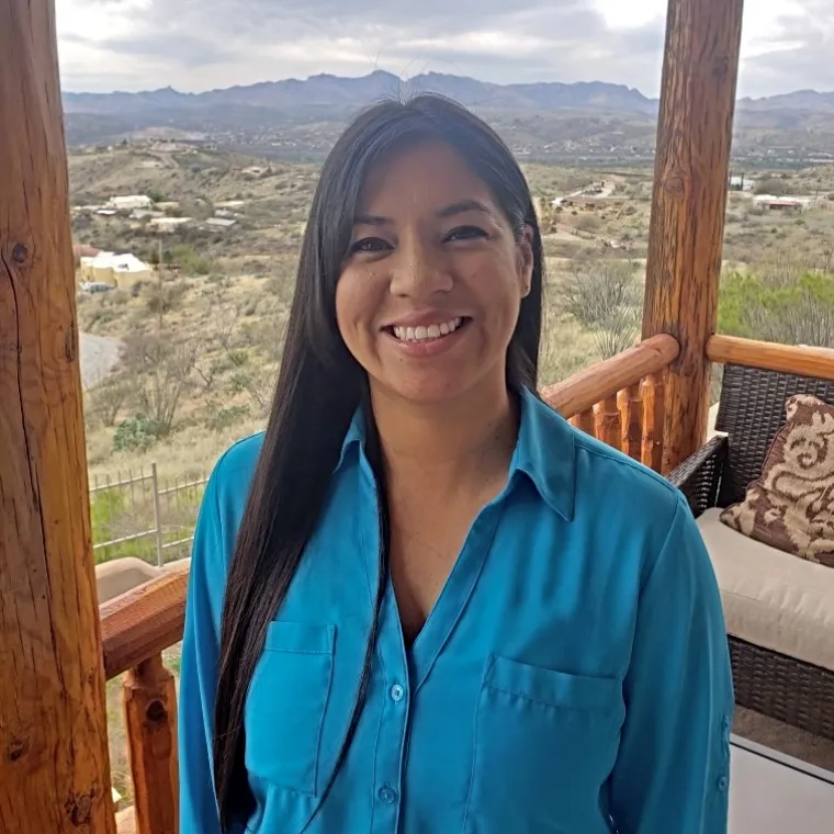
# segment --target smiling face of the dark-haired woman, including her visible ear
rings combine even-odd
[[[504,385],[530,292],[520,240],[455,151],[427,143],[372,170],[336,288],[339,331],[372,390],[420,403]]]

